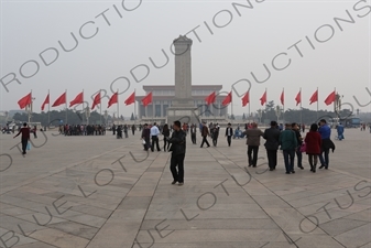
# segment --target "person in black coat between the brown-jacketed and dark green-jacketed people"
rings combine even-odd
[[[266,140],[264,147],[266,149],[268,164],[270,171],[275,170],[277,165],[277,150],[280,141],[280,129],[276,121],[271,121],[271,128],[265,129],[263,138]]]

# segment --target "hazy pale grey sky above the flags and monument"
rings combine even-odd
[[[21,82],[8,84],[9,91],[0,84],[0,110],[18,109],[17,101],[30,90],[34,111],[41,110],[48,89],[52,104],[65,89],[68,103],[84,89],[91,105],[91,95],[105,89],[111,96],[112,82],[122,77],[112,88],[127,90],[119,96],[120,115],[130,116],[133,105],[123,101],[134,89],[143,95],[143,85],[174,84],[171,44],[186,33],[194,41],[193,84],[223,85],[227,93],[247,79],[251,111],[261,108],[265,88],[268,100],[276,104],[284,88],[285,109],[298,108],[301,87],[305,108],[316,109],[309,98],[317,87],[320,109],[332,109],[324,100],[335,87],[354,109],[371,108],[353,99],[362,105],[371,100],[365,89],[371,90],[371,1],[1,0],[0,10],[0,79],[11,82],[13,73]],[[155,68],[150,57],[164,66]],[[248,112],[241,107],[247,80],[233,86],[239,94],[233,91],[234,114]],[[102,103],[105,110],[108,99]],[[116,110],[113,105],[109,112]]]

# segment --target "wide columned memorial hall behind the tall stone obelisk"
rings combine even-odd
[[[220,93],[222,85],[192,85],[192,98],[195,108],[198,109],[199,117],[223,117],[228,116],[228,107],[221,103],[228,93]],[[146,96],[152,91],[152,104],[143,106],[142,99],[144,96],[135,96],[138,106],[138,118],[166,118],[167,108],[172,106],[172,100],[175,96],[174,85],[144,85],[143,89]],[[205,98],[212,91],[216,93],[216,101],[214,105],[206,105]],[[222,94],[222,95],[219,95]]]

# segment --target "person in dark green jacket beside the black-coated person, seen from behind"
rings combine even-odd
[[[285,130],[280,134],[280,145],[283,151],[283,159],[285,161],[286,174],[295,173],[294,159],[295,149],[297,148],[297,139],[295,132],[291,130],[291,125],[285,125]]]

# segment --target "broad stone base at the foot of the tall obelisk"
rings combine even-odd
[[[167,108],[167,123],[173,125],[175,120],[181,121],[182,125],[184,122],[195,123],[198,127],[200,121],[198,108],[195,106],[172,106]]]

